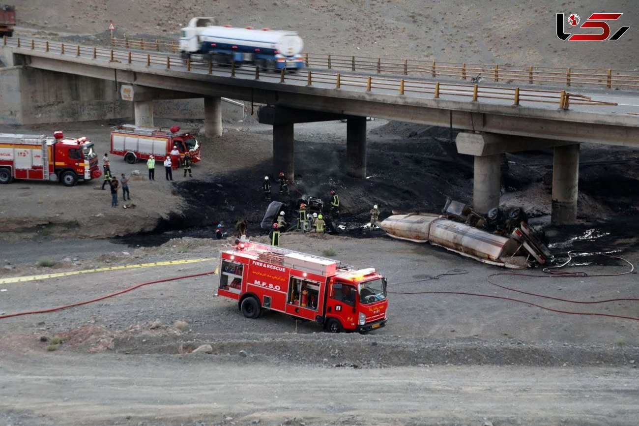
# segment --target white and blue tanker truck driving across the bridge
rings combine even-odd
[[[304,42],[295,31],[219,26],[212,17],[192,18],[180,32],[183,59],[270,70],[304,67]]]

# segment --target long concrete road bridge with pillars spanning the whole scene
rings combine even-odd
[[[473,206],[481,213],[499,204],[502,153],[554,148],[552,219],[560,225],[576,218],[579,144],[639,146],[639,96],[633,92],[601,91],[585,97],[561,90],[384,75],[314,70],[274,74],[184,63],[170,54],[65,46],[47,40],[12,38],[5,43],[1,48],[8,68],[0,74],[0,101],[6,93],[19,91],[22,107],[42,113],[50,111],[56,90],[76,88],[78,79],[90,79],[84,82],[86,88],[93,87],[97,98],[107,93],[111,96],[107,102],[119,102],[113,88],[121,89],[125,99],[134,102],[138,125],[153,125],[153,99],[204,97],[204,127],[213,136],[221,134],[221,97],[265,104],[259,120],[273,125],[274,171],[285,171],[291,179],[295,123],[346,118],[347,173],[362,178],[366,177],[366,116],[465,130],[456,143],[459,153],[475,157]],[[4,77],[10,75],[7,72],[13,73],[11,79]],[[105,82],[113,82],[113,88],[109,90],[105,84],[111,83]],[[84,98],[80,100],[95,107],[95,99]]]

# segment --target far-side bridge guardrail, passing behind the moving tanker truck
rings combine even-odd
[[[176,42],[144,40],[142,38],[111,38],[111,47],[168,51],[177,53]],[[305,53],[310,68],[374,72],[375,74],[420,75],[432,78],[449,77],[461,80],[486,79],[495,83],[558,84],[560,86],[590,85],[604,88],[639,88],[639,72],[612,68],[560,68],[534,65],[499,65],[465,62],[419,61],[415,59],[370,58],[334,54]]]

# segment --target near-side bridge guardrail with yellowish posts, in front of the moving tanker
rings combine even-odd
[[[313,86],[313,83],[328,84],[336,89],[354,88],[359,91],[375,92],[380,94],[394,94],[406,96],[411,94],[433,95],[434,99],[441,97],[465,97],[471,102],[479,102],[481,99],[511,100],[513,105],[519,106],[522,102],[541,102],[557,104],[560,109],[568,109],[570,104],[613,106],[614,102],[592,100],[590,97],[569,93],[565,90],[531,90],[515,88],[495,88],[479,86],[475,83],[456,84],[442,83],[440,81],[427,82],[413,79],[397,79],[389,76],[373,76],[359,74],[341,74],[334,72],[317,72],[307,70],[301,73],[289,73],[284,70],[261,70],[259,67],[213,67],[212,63],[192,63],[184,61],[178,56],[163,55],[160,53],[144,53],[139,51],[121,51],[117,49],[104,49],[101,47],[89,47],[82,45],[50,42],[48,40],[36,40],[34,38],[8,38],[4,37],[3,45],[27,49],[31,51],[54,52],[63,56],[75,56],[77,58],[90,58],[95,60],[108,60],[110,62],[144,65],[146,67],[162,67],[186,71],[199,71],[212,74],[213,69],[224,70],[229,77],[252,77],[256,80],[268,80],[273,83],[289,83]]]

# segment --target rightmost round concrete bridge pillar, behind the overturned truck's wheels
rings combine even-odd
[[[579,144],[555,146],[551,223],[569,225],[577,218]]]

